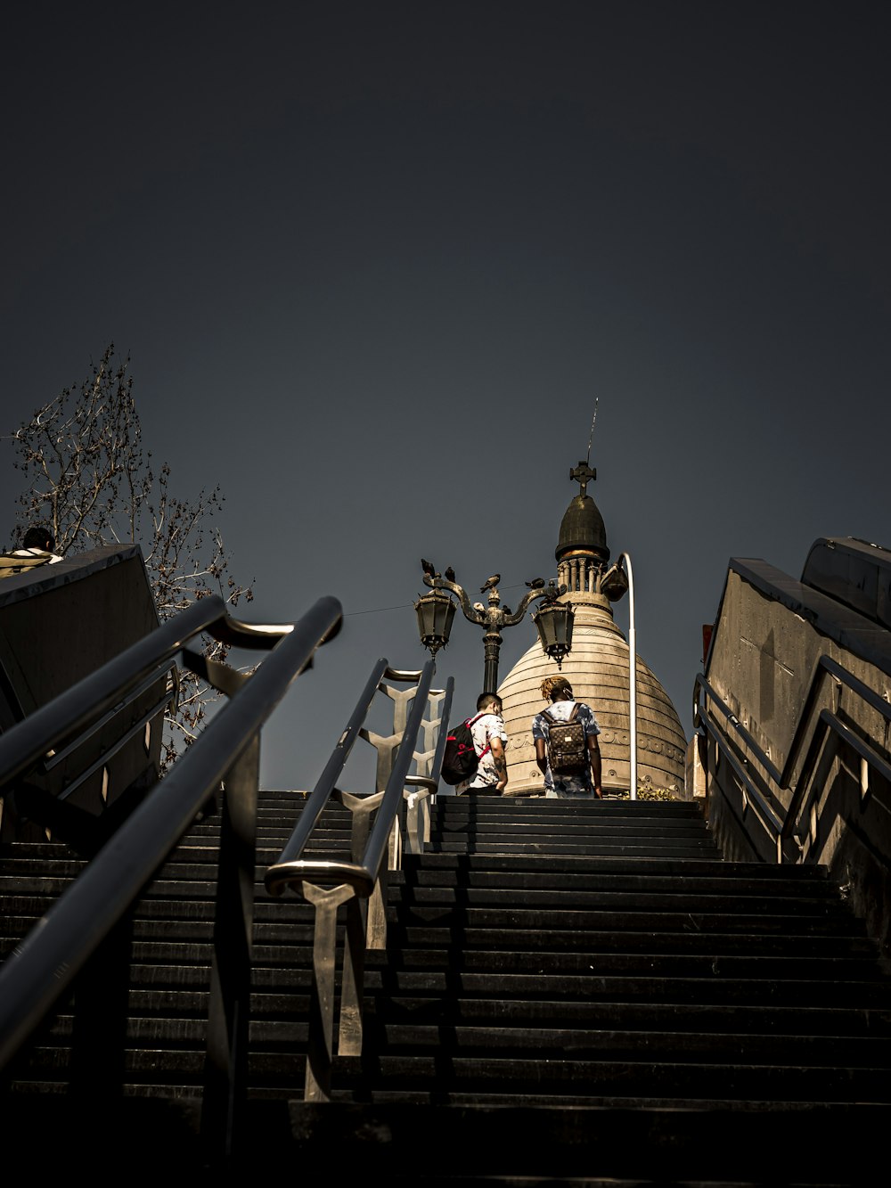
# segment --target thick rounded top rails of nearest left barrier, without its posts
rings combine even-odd
[[[298,623],[277,627],[251,627],[232,619],[222,599],[203,599],[0,737],[0,788],[8,788],[48,750],[110,708],[128,681],[140,682],[200,632],[272,649],[0,969],[0,1066],[124,917],[341,621],[340,602],[330,596],[318,599]],[[91,706],[84,706],[87,696]]]

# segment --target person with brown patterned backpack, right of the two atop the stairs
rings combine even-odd
[[[575,701],[564,676],[542,682],[548,709],[532,719],[536,762],[544,775],[544,795],[604,798],[600,784],[600,727],[590,706]]]

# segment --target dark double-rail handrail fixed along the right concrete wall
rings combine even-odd
[[[770,828],[773,834],[773,840],[777,846],[778,861],[782,861],[783,858],[783,841],[795,836],[795,822],[798,821],[803,811],[807,795],[816,771],[816,757],[822,746],[822,738],[826,731],[834,733],[843,742],[852,746],[858,752],[861,760],[867,763],[871,767],[879,772],[879,775],[884,776],[885,779],[891,779],[891,765],[873,747],[871,747],[868,742],[851,731],[832,710],[823,708],[817,714],[816,720],[814,720],[816,697],[820,687],[823,683],[824,676],[832,677],[832,680],[839,685],[846,685],[861,701],[868,704],[872,709],[877,710],[886,722],[891,722],[891,704],[889,704],[889,702],[880,697],[873,689],[855,677],[846,668],[839,664],[838,661],[823,653],[814,664],[810,683],[808,685],[808,693],[804,699],[801,714],[798,715],[795,731],[792,732],[792,739],[782,769],[777,767],[770,756],[763,750],[762,746],[759,746],[750,731],[740,722],[726,701],[723,701],[721,695],[715,690],[714,685],[706,680],[703,674],[699,674],[694,683],[694,725],[701,725],[708,731],[715,740],[715,744],[719,746],[721,754],[733,766],[737,777],[745,784],[745,791],[750,803],[754,803],[757,805],[758,817],[762,820],[762,823],[765,824],[765,828]],[[728,725],[732,726],[733,731],[739,735],[745,748],[754,756],[757,762],[764,767],[767,776],[773,781],[778,789],[786,790],[791,788],[792,775],[807,742],[807,752],[804,754],[798,779],[792,789],[792,797],[782,816],[771,804],[769,804],[750,776],[742,770],[738,758],[729,748],[727,739],[722,737],[709,721],[706,707],[700,703],[700,691],[704,693],[706,697],[720,710]]]

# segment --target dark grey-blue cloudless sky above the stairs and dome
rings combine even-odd
[[[303,786],[372,661],[423,662],[421,556],[511,605],[554,573],[599,398],[689,734],[729,556],[891,542],[887,45],[886,6],[820,0],[23,10],[2,429],[113,340],[173,487],[222,482],[252,615],[343,601],[266,735]],[[478,628],[440,669],[469,704]]]

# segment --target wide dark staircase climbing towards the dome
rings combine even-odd
[[[299,803],[261,797],[260,876]],[[346,811],[327,824],[316,845],[343,857]],[[164,1102],[152,1125],[175,1119],[185,1158],[215,828],[195,826],[134,924],[120,1133],[140,1101]],[[13,848],[5,949],[78,865]],[[820,868],[722,861],[693,804],[440,797],[388,917],[364,1055],[337,1061],[330,1104],[307,1105],[311,914],[258,881],[249,1165],[425,1184],[884,1178],[891,978]],[[13,1069],[2,1105],[20,1132],[82,1120],[70,1072],[63,1010]]]

